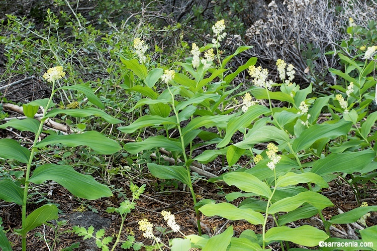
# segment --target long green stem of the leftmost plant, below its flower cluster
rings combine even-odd
[[[23,197],[23,203],[22,203],[22,228],[23,229],[26,226],[26,203],[27,203],[27,200],[28,200],[28,189],[29,189],[29,178],[30,178],[31,164],[33,162],[34,154],[37,151],[36,145],[38,143],[39,136],[42,133],[44,121],[46,120],[47,109],[52,102],[52,97],[54,96],[54,89],[55,89],[55,81],[52,82],[51,96],[50,96],[50,99],[47,102],[47,106],[45,107],[45,109],[43,111],[43,115],[42,115],[42,118],[41,118],[41,122],[39,124],[38,131],[35,134],[32,150],[31,150],[30,157],[29,157],[29,161],[26,165],[24,197]],[[24,233],[22,235],[22,250],[26,251],[26,233]]]

